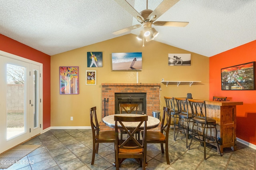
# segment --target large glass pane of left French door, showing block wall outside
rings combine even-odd
[[[7,139],[25,132],[25,67],[7,64]]]

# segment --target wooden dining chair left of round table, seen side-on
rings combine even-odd
[[[91,127],[92,127],[92,162],[94,164],[95,153],[98,153],[99,143],[111,143],[115,142],[115,131],[108,130],[100,132],[96,107],[92,107],[90,109],[90,119],[91,119]]]

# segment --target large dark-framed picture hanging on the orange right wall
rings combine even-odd
[[[255,61],[221,69],[222,90],[255,90]]]

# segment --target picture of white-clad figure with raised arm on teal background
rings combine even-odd
[[[102,67],[102,52],[87,52],[87,67]]]

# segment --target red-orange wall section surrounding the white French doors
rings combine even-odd
[[[50,55],[0,34],[0,50],[43,64],[43,129],[50,127]]]

